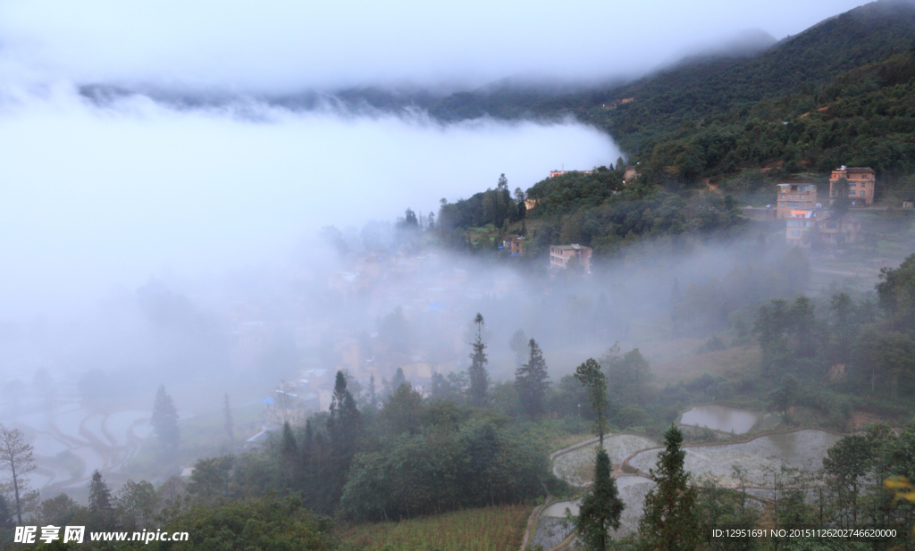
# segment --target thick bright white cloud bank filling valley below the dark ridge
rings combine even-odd
[[[12,94],[7,94],[7,98]],[[100,107],[70,85],[0,108],[0,318],[48,313],[151,275],[198,277],[283,258],[318,228],[428,213],[499,175],[616,160],[574,122],[443,126],[422,113],[293,113],[253,101],[178,111]]]

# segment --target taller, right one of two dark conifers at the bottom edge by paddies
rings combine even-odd
[[[641,548],[645,551],[693,551],[699,543],[702,528],[698,494],[689,485],[689,473],[684,471],[683,441],[683,433],[671,425],[664,433],[664,450],[658,455],[657,469],[651,470],[657,486],[645,496],[639,523]]]

